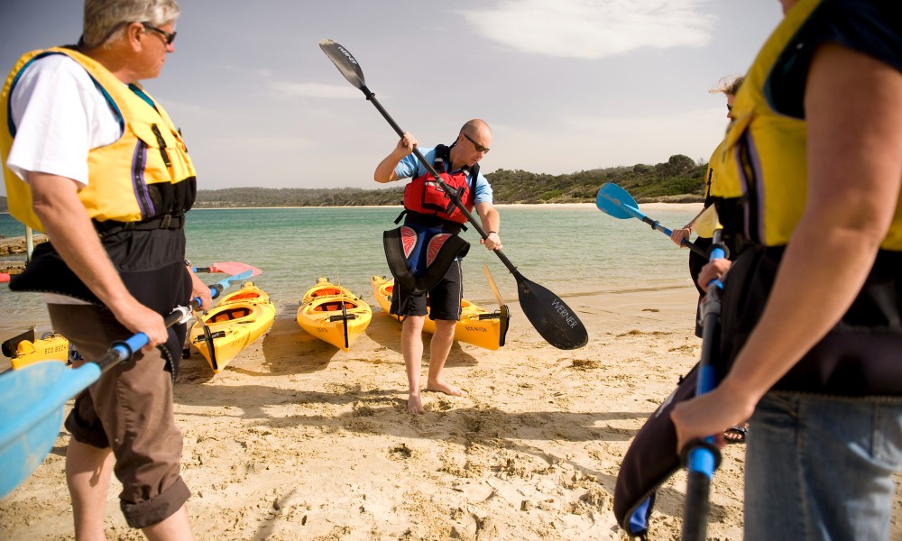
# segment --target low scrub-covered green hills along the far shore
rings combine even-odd
[[[566,175],[495,170],[486,175],[494,201],[503,203],[594,203],[598,188],[613,182],[639,203],[690,203],[704,197],[706,163],[676,154],[657,165],[637,164],[584,170]],[[375,184],[375,183],[373,183]],[[196,208],[238,206],[382,206],[400,205],[403,185],[391,188],[223,188],[199,189]],[[6,197],[0,197],[0,212]]]

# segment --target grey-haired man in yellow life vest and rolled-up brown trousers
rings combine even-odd
[[[111,475],[152,539],[192,538],[172,381],[185,326],[172,308],[210,291],[185,264],[195,170],[179,130],[139,81],[175,50],[174,0],[85,0],[77,45],[29,52],[0,93],[10,213],[43,231],[10,289],[40,291],[53,329],[86,359],[141,332],[149,343],[76,398],[66,478],[75,537],[104,536]]]

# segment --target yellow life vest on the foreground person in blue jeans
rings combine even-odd
[[[759,51],[733,101],[733,121],[721,153],[712,158],[718,171],[712,196],[726,199],[724,224],[735,224],[752,243],[783,246],[805,211],[807,144],[805,119],[774,110],[767,96],[768,79],[778,58],[795,46],[796,33],[821,0],[800,0]],[[851,179],[850,179],[851,180]],[[902,196],[884,250],[902,251]],[[728,216],[727,210],[741,216]],[[729,226],[728,226],[729,229]]]

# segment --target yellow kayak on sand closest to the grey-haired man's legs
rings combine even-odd
[[[214,373],[226,368],[245,347],[270,330],[276,308],[253,282],[229,293],[191,328],[191,344]],[[212,347],[211,345],[212,344]]]

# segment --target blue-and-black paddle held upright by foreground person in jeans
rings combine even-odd
[[[711,261],[726,257],[726,248],[721,243],[721,229],[714,231],[711,246]],[[698,362],[698,381],[695,396],[701,396],[717,386],[717,373],[711,365],[713,351],[719,343],[721,332],[721,288],[720,280],[708,284],[707,294],[702,303],[702,356]],[[681,458],[686,463],[686,508],[683,512],[683,541],[704,541],[708,529],[708,497],[711,478],[721,461],[721,454],[714,446],[714,437],[696,439],[681,450]]]

